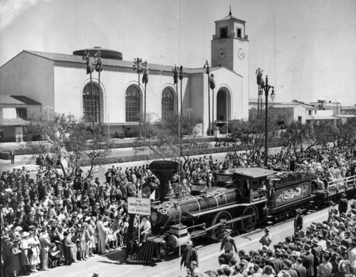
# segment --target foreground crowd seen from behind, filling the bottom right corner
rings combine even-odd
[[[234,239],[229,236],[231,230],[227,229],[226,236],[221,243],[221,250],[224,246],[225,254],[219,256],[219,266],[209,271],[201,271],[197,266],[199,265],[198,255],[194,254],[187,261],[187,264],[190,264],[187,266],[187,276],[355,276],[356,198],[351,204],[351,209],[347,206],[345,212],[344,206],[337,209],[335,203],[330,202],[328,220],[312,222],[309,226],[286,236],[284,241],[276,241],[275,244],[268,234],[269,229],[266,228],[266,234],[260,239],[261,247],[251,251],[238,249],[239,246],[236,247]],[[227,251],[226,241],[231,241],[227,246]],[[188,249],[191,251],[192,246]],[[234,256],[234,250],[236,256]],[[184,264],[186,264],[187,254],[184,253],[184,255]]]

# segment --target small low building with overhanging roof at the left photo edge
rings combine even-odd
[[[41,113],[41,103],[23,95],[0,95],[0,142],[22,142],[23,126]]]

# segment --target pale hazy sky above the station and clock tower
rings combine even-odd
[[[230,5],[246,21],[250,98],[262,68],[278,101],[356,105],[355,0],[0,0],[0,66],[22,50],[100,46],[125,61],[200,68]]]

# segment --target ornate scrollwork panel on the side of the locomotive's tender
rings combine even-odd
[[[293,202],[295,199],[306,197],[310,194],[309,182],[303,182],[292,187],[286,187],[283,189],[277,189],[276,191],[276,204],[286,204]]]

